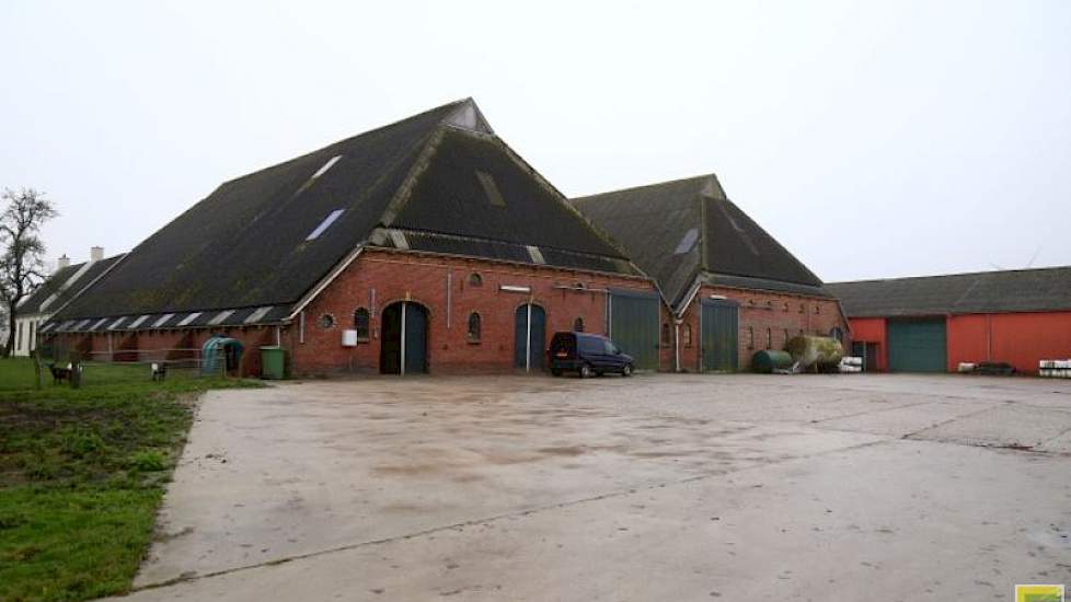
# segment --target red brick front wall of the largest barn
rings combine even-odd
[[[480,275],[473,286],[470,276]],[[584,292],[560,286],[583,282]],[[531,293],[507,292],[500,286],[530,287]],[[339,275],[286,331],[296,374],[379,372],[383,309],[408,300],[428,312],[428,368],[433,373],[508,372],[514,370],[515,312],[531,302],[546,313],[545,343],[557,331],[573,329],[577,317],[585,331],[606,333],[606,294],[599,289],[655,290],[652,282],[629,277],[465,259],[369,251]],[[449,294],[448,294],[449,289]],[[449,303],[448,303],[449,298]],[[449,312],[448,312],[449,304]],[[369,339],[356,347],[342,345],[342,333],[354,327],[358,308],[371,315]],[[468,338],[469,315],[481,316],[479,341]],[[330,314],[334,325],[323,328]],[[303,343],[301,341],[303,320]],[[668,366],[668,364],[665,364]]]

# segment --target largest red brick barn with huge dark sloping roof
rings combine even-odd
[[[295,374],[538,370],[555,331],[614,332],[658,369],[659,297],[471,100],[227,182],[42,327],[95,359],[211,335]]]

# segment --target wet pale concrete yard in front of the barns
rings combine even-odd
[[[1071,584],[1071,381],[208,393],[124,600],[1011,600]]]

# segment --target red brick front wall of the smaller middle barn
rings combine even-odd
[[[684,311],[679,327],[675,327],[668,311],[663,312],[663,328],[668,325],[670,337],[680,337],[682,371],[702,371],[700,300],[710,299],[712,294],[723,296],[739,304],[737,344],[740,370],[750,369],[751,356],[756,351],[783,349],[785,343],[794,336],[829,336],[834,327],[840,327],[845,336],[848,334],[840,305],[832,299],[704,286]],[[844,344],[848,345],[847,338]],[[672,366],[675,354],[673,345],[664,346],[663,366]]]

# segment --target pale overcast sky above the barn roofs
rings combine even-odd
[[[827,281],[1071,264],[1071,2],[0,4],[49,257],[457,99],[566,195],[715,172]]]

